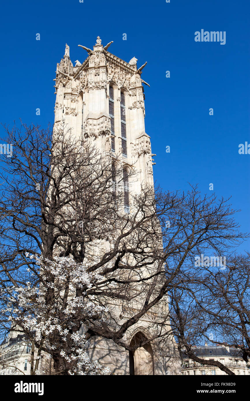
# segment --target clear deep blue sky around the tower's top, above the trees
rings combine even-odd
[[[157,154],[154,179],[171,191],[191,182],[210,193],[213,183],[219,196],[232,195],[249,231],[250,155],[238,154],[240,143],[250,144],[249,15],[246,0],[2,2],[0,122],[53,123],[53,79],[65,43],[71,61],[83,62],[78,44],[91,48],[98,35],[104,45],[114,41],[111,53],[135,56],[138,67],[148,62],[142,79],[150,84],[145,124]],[[196,43],[201,29],[226,31],[226,45]]]

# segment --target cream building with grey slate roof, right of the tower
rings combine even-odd
[[[228,346],[205,346],[194,349],[195,355],[205,360],[217,360],[236,375],[250,375],[250,366],[242,359],[236,348]],[[216,366],[202,365],[189,358],[183,359],[182,375],[226,375]]]

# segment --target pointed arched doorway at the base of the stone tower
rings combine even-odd
[[[130,375],[154,375],[153,350],[142,332],[134,335],[130,346],[138,346],[135,351],[129,351]],[[140,346],[142,343],[146,344]]]

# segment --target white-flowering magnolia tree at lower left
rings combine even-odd
[[[29,266],[24,284],[13,280],[12,286],[0,289],[6,305],[1,317],[33,344],[31,374],[38,374],[41,369],[45,373],[44,359],[50,358],[57,374],[108,374],[108,368],[89,358],[84,350],[85,335],[79,331],[79,320],[80,324],[89,318],[102,320],[107,312],[87,294],[100,277],[95,272],[87,273],[83,263],[76,263],[72,257],[49,260],[29,253],[24,257]],[[81,296],[75,296],[76,289],[81,290]]]

